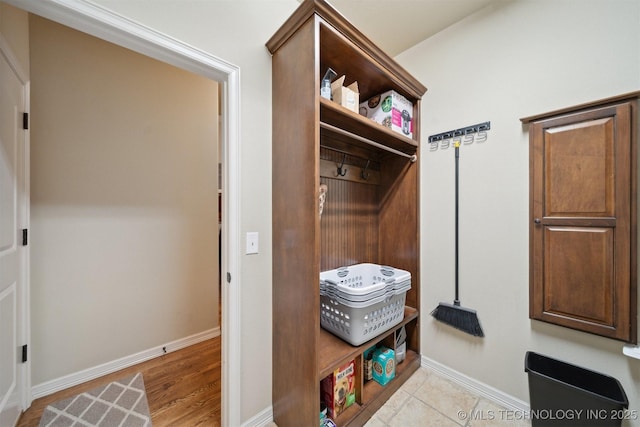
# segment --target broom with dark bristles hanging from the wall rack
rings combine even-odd
[[[432,312],[431,315],[436,320],[453,326],[463,332],[476,337],[484,337],[484,332],[480,326],[480,320],[475,310],[465,308],[460,305],[459,284],[458,284],[458,175],[460,163],[460,141],[454,143],[456,151],[456,211],[455,211],[455,273],[456,273],[456,297],[453,304],[441,302]]]

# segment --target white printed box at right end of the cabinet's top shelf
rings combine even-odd
[[[359,112],[383,126],[413,137],[413,104],[394,90],[362,102]]]

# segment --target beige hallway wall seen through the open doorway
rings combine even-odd
[[[218,326],[218,84],[29,23],[37,385]]]

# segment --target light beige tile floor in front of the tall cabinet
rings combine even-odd
[[[507,410],[426,369],[418,369],[365,427],[531,426],[521,411]]]

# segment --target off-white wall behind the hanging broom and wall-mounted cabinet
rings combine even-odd
[[[640,360],[623,343],[528,318],[529,140],[521,117],[640,89],[640,1],[498,3],[397,58],[422,104],[422,352],[523,401],[533,350],[618,378],[640,402]],[[460,151],[460,287],[486,338],[428,313],[454,289],[454,152],[428,136],[491,121]],[[632,425],[640,425],[635,420]]]

